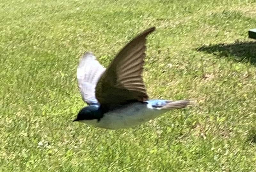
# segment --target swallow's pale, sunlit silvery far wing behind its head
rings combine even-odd
[[[85,53],[80,59],[76,77],[82,98],[89,105],[98,104],[98,100],[95,97],[95,87],[105,70],[106,68],[101,66],[91,52]]]

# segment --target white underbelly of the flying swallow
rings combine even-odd
[[[150,108],[148,104],[133,103],[124,108],[105,113],[99,122],[95,120],[96,123],[93,122],[92,125],[108,129],[133,127],[156,118],[164,112],[160,109]]]

